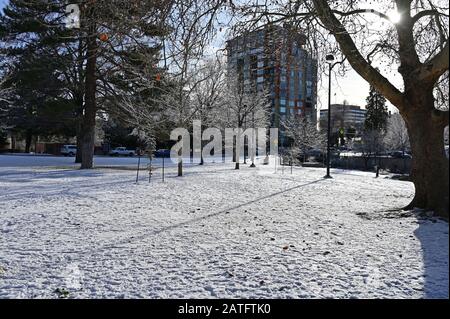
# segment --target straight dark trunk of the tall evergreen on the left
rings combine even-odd
[[[89,28],[88,58],[86,64],[86,103],[83,120],[83,146],[81,169],[94,167],[94,144],[95,144],[95,116],[97,114],[96,92],[97,92],[97,40],[94,23]]]

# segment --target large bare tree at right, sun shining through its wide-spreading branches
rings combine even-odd
[[[319,56],[342,52],[406,122],[416,190],[406,209],[448,217],[449,162],[443,151],[449,123],[448,1],[244,0],[231,7],[240,16],[238,31],[288,23],[309,35],[310,48]],[[403,85],[392,82],[395,68]]]

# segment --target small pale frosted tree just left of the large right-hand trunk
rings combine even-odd
[[[400,114],[392,114],[389,117],[384,144],[388,150],[399,150],[403,154],[409,149],[408,128]]]

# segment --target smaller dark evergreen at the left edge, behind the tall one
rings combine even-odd
[[[53,76],[54,70],[51,57],[28,51],[12,66],[4,83],[14,87],[14,94],[0,108],[0,122],[25,138],[26,152],[34,136],[74,135],[74,105],[64,95],[64,82]]]

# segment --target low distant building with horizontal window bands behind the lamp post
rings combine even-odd
[[[331,127],[332,132],[344,129],[345,134],[359,134],[364,128],[367,110],[357,105],[332,104],[331,105]],[[328,127],[328,110],[320,110],[320,129]]]

